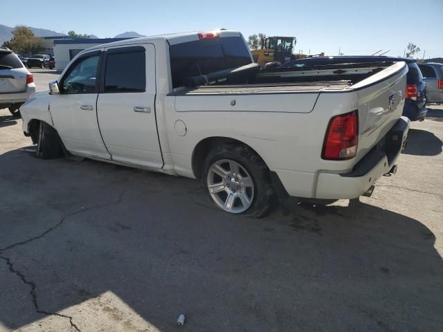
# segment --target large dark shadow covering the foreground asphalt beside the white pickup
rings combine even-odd
[[[40,310],[62,311],[111,291],[165,332],[177,331],[180,313],[186,331],[443,326],[435,236],[407,216],[355,201],[348,208],[289,202],[254,220],[215,209],[188,178],[37,160],[25,151],[0,156],[0,167],[8,193],[0,197],[1,233],[8,234],[0,248],[61,222],[1,253],[35,283]],[[32,301],[30,285],[1,288],[1,324],[32,322],[22,311]],[[90,319],[125,323],[119,308],[94,303]],[[70,315],[91,330],[84,310]]]

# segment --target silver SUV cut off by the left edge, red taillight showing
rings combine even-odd
[[[17,116],[21,104],[34,92],[33,74],[12,50],[0,48],[0,109],[8,108]]]

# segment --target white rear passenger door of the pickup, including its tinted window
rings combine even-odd
[[[112,160],[163,167],[155,97],[153,44],[105,48],[97,117]]]

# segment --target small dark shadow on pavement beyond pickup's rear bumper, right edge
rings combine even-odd
[[[403,153],[414,156],[437,156],[442,153],[442,145],[442,140],[431,131],[409,129],[408,145]]]

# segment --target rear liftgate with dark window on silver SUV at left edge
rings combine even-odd
[[[26,69],[10,51],[0,50],[0,93],[19,93],[26,90]]]

